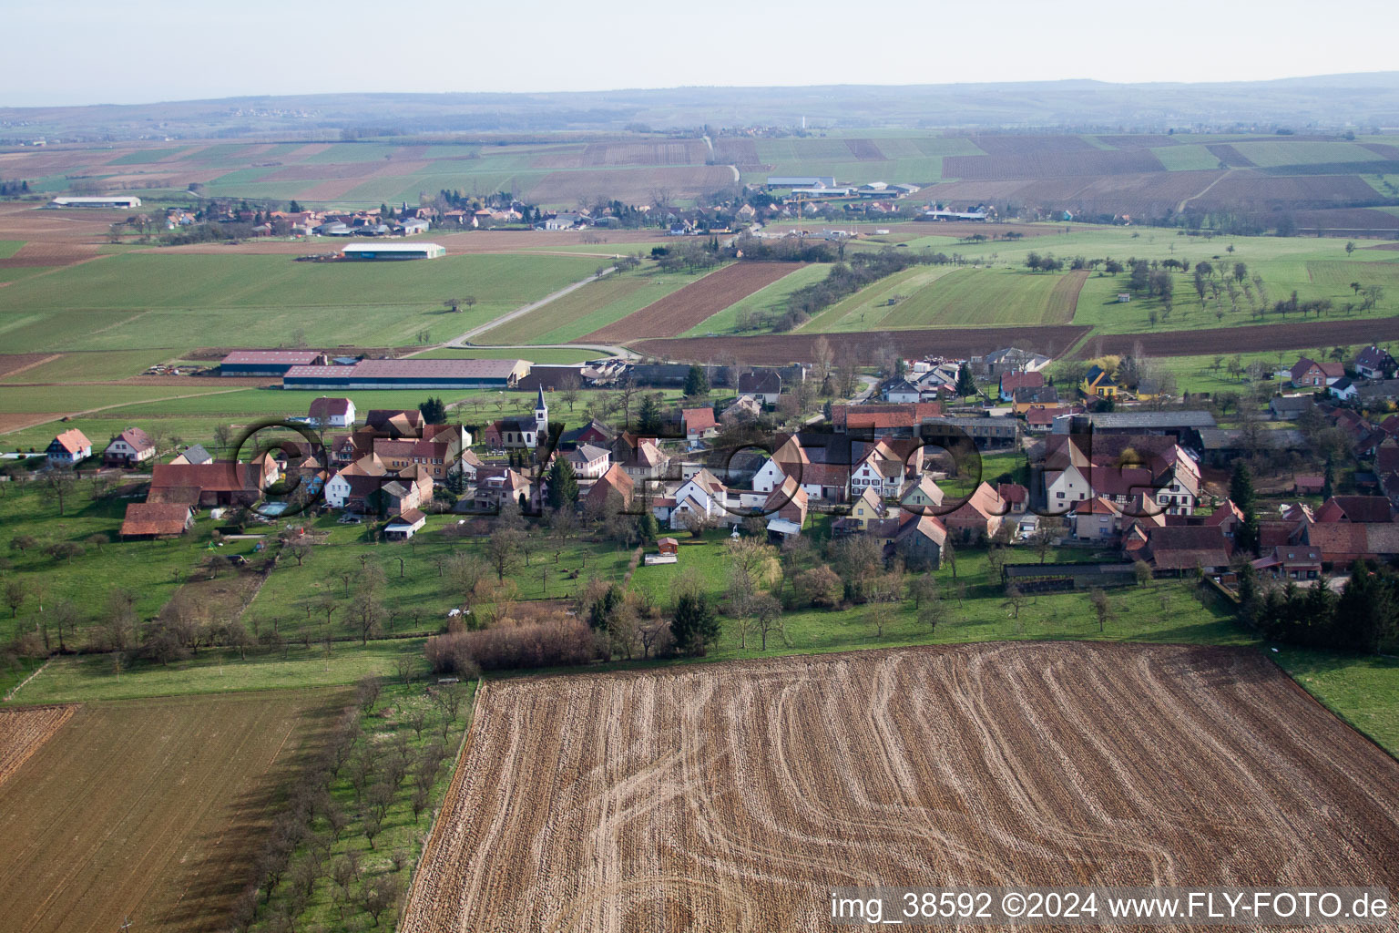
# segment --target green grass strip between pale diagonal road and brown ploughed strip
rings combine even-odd
[[[477,343],[548,344],[578,340],[679,291],[702,273],[611,274],[478,334]]]

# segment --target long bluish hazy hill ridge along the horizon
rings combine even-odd
[[[1399,71],[1220,84],[683,87],[553,94],[320,94],[0,108],[0,141],[422,133],[599,133],[713,126],[1302,131],[1399,127]]]

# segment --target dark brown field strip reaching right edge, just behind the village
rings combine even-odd
[[[1079,355],[1088,359],[1100,352],[1132,352],[1132,347],[1137,343],[1142,344],[1142,351],[1151,357],[1200,357],[1254,352],[1259,348],[1314,350],[1316,347],[1384,343],[1385,340],[1399,340],[1399,318],[1314,320],[1305,325],[1297,322],[1151,334],[1107,334],[1086,340],[1079,348]]]

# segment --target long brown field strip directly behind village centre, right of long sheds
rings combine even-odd
[[[867,330],[863,333],[825,334],[825,339],[837,352],[853,350],[862,359],[874,359],[876,352],[884,344],[897,346],[905,355],[979,355],[1002,347],[1020,347],[1052,357],[1072,347],[1086,333],[1088,333],[1088,327],[1059,325],[1045,327]],[[816,354],[813,354],[811,346],[820,337],[821,334],[816,333],[762,334],[758,337],[672,337],[669,340],[641,340],[631,344],[631,347],[648,355],[680,362],[713,362],[715,359],[734,357],[750,366],[781,366],[789,362],[810,362],[814,359]]]

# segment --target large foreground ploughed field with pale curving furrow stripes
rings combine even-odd
[[[845,885],[1392,888],[1396,807],[1399,764],[1255,650],[497,681],[399,929],[817,930]]]

